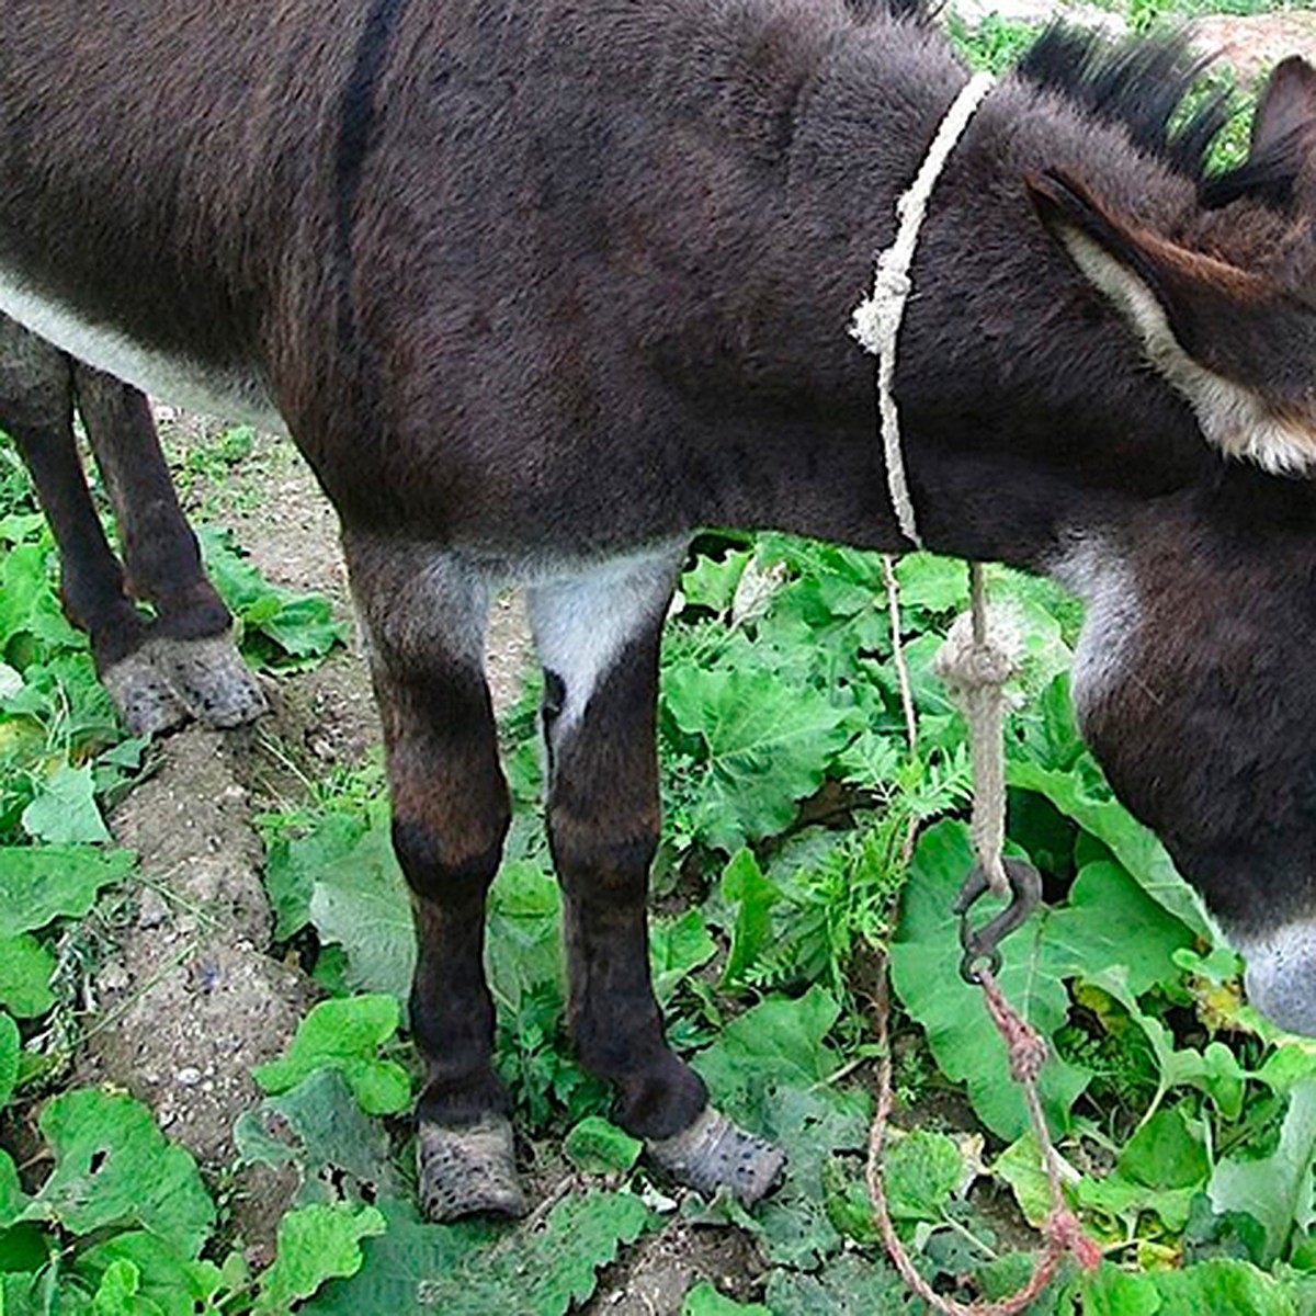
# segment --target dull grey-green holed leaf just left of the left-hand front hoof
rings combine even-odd
[[[337,1069],[320,1069],[283,1096],[266,1098],[234,1125],[246,1162],[295,1166],[296,1204],[388,1192],[388,1133],[366,1116]]]

